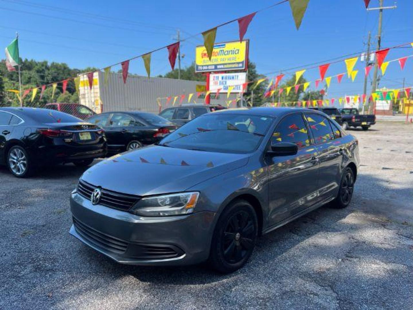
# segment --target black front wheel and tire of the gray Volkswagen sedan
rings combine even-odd
[[[245,265],[258,236],[258,219],[245,200],[235,200],[222,212],[212,237],[209,265],[218,272],[231,273]]]

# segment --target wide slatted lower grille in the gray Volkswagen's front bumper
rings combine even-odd
[[[96,229],[88,227],[87,225],[79,222],[75,218],[73,218],[73,224],[79,235],[81,235],[83,238],[85,238],[90,243],[93,243],[99,246],[100,248],[104,248],[105,250],[108,250],[108,251],[111,251],[117,254],[125,253],[126,249],[128,248],[127,242],[122,241],[117,238],[113,238],[106,234],[102,234]]]

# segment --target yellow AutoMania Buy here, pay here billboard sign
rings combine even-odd
[[[195,50],[195,72],[247,70],[248,40],[214,45],[211,60],[204,45]]]

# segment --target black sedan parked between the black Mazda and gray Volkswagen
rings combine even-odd
[[[156,143],[178,128],[158,115],[145,112],[106,112],[90,117],[88,122],[104,129],[108,153],[112,154]]]

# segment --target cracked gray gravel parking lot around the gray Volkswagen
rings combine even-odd
[[[263,236],[225,276],[118,265],[69,235],[82,169],[21,180],[0,167],[0,308],[412,309],[413,125],[350,132],[362,163],[351,205]]]

